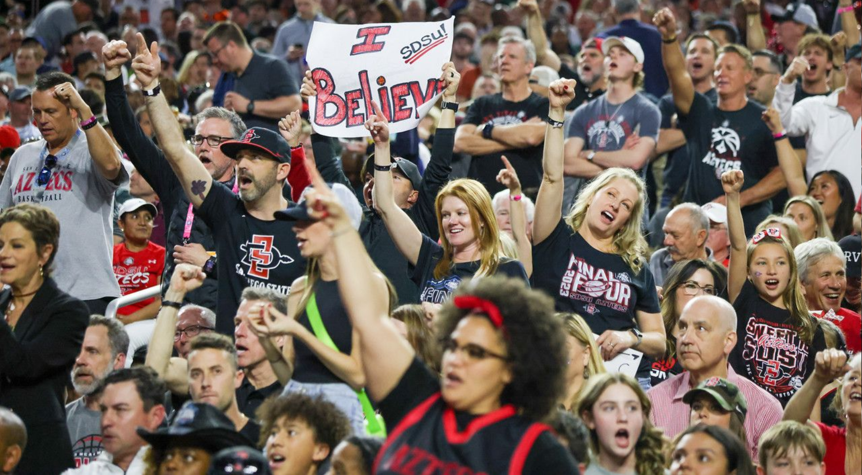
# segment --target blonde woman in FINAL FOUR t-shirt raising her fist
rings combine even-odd
[[[637,377],[649,388],[650,358],[665,353],[665,328],[640,231],[646,186],[628,168],[609,168],[578,194],[569,216],[562,216],[562,121],[574,86],[571,79],[559,79],[548,88],[551,122],[533,222],[533,285],[554,296],[559,311],[584,316],[599,335],[603,359],[628,348],[646,353]]]

